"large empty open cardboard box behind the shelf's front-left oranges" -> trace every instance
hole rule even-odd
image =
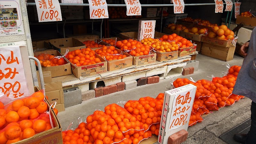
[[[58,50],[61,54],[65,53],[68,49],[69,52],[86,48],[85,45],[75,38],[59,38],[51,39],[49,43],[54,49]]]

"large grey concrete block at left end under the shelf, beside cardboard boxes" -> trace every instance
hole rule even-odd
[[[65,108],[82,103],[82,92],[78,87],[63,90],[63,92]]]

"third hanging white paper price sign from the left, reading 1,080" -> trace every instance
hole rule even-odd
[[[126,15],[141,15],[141,5],[139,0],[124,0],[126,4]]]

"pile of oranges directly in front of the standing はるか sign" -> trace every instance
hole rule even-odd
[[[149,45],[143,45],[139,41],[132,39],[117,41],[116,46],[121,51],[128,52],[132,56],[148,55],[150,52]]]

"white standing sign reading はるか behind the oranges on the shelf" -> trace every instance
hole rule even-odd
[[[144,38],[154,38],[155,36],[156,20],[140,20],[138,41]]]

